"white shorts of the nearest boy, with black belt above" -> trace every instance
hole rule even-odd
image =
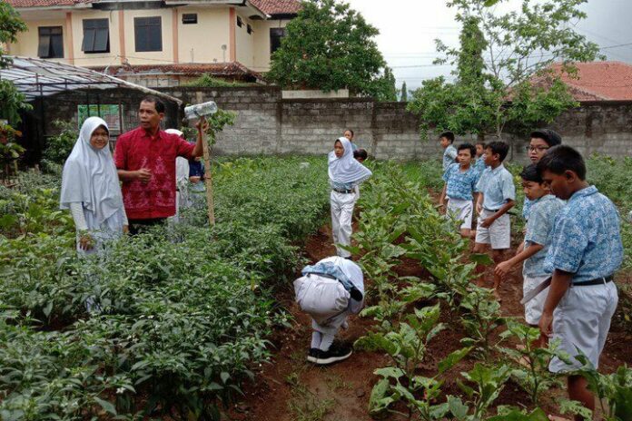
[[[573,364],[567,365],[555,357],[548,369],[558,373],[581,367],[581,363],[573,358],[579,353],[588,357],[597,369],[617,302],[617,285],[614,282],[589,287],[571,286],[553,312],[551,340],[561,340],[559,349],[571,356]]]

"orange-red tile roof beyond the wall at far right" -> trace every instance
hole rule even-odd
[[[578,101],[632,101],[632,65],[621,62],[575,64],[577,79],[562,74],[562,81]],[[553,69],[559,71],[561,64]]]

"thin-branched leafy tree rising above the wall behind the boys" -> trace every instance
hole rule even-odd
[[[452,0],[461,24],[459,47],[437,41],[439,64],[455,66],[454,82],[425,81],[413,94],[410,110],[424,125],[500,137],[552,122],[577,103],[552,64],[573,74],[574,62],[594,60],[597,44],[574,31],[586,18],[586,0],[522,0],[518,12],[499,14],[507,0]]]

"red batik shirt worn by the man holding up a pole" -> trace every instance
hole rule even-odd
[[[177,134],[159,130],[155,136],[142,127],[116,141],[118,170],[152,171],[149,182],[123,181],[123,203],[129,220],[167,218],[175,214],[175,159],[193,157],[195,146]]]

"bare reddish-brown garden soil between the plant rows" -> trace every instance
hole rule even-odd
[[[355,227],[354,227],[355,228]],[[307,240],[304,255],[311,262],[335,255],[332,246],[331,228],[321,227],[315,235]],[[517,244],[512,252],[515,252]],[[415,260],[403,259],[395,271],[400,276],[425,277],[427,272],[420,268]],[[487,279],[491,279],[490,269]],[[370,284],[370,279],[365,279]],[[489,286],[489,285],[486,285]],[[522,317],[522,276],[519,270],[514,271],[509,279],[500,287],[502,311],[504,316]],[[373,385],[378,377],[373,371],[390,364],[390,358],[380,353],[355,352],[349,359],[331,367],[315,367],[306,361],[311,340],[310,318],[301,313],[293,300],[291,282],[287,288],[281,289],[277,299],[283,308],[287,308],[293,318],[291,327],[277,330],[272,338],[273,357],[270,364],[260,367],[255,373],[255,380],[244,385],[244,396],[226,412],[227,419],[240,421],[360,421],[373,419],[369,415],[369,398]],[[445,311],[441,321],[449,323],[449,314]],[[341,331],[342,341],[352,344],[365,335],[373,325],[372,320],[352,316],[350,328]],[[622,328],[622,323],[613,323],[607,338],[606,348],[601,357],[601,370],[611,372],[616,367],[632,364],[632,355],[627,345],[632,339]],[[459,349],[459,340],[464,337],[457,320],[449,323],[430,342],[429,357],[420,367],[421,375],[434,375],[439,361],[450,352]],[[493,356],[502,360],[502,356]],[[465,358],[446,376],[442,387],[444,393],[459,394],[455,379],[461,371],[468,371],[474,366],[476,358]],[[562,389],[551,390],[543,409],[551,415],[559,415],[554,405],[556,397],[564,397]],[[497,399],[496,405],[529,406],[527,394],[517,384],[509,381]],[[407,412],[403,406],[396,409]],[[408,416],[389,414],[384,419],[408,419]]]

